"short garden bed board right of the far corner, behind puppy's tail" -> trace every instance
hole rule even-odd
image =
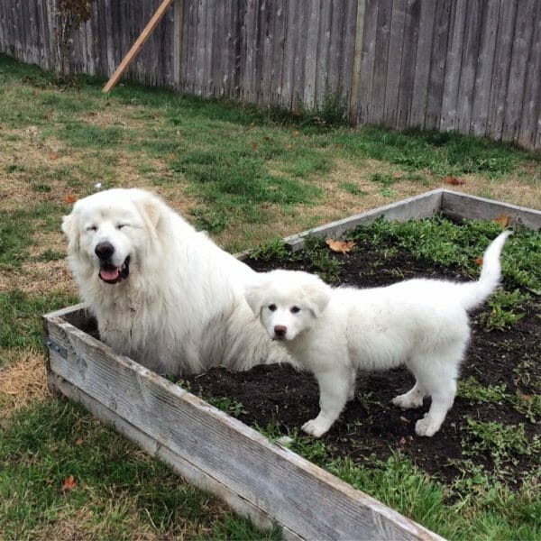
[[[443,190],[441,211],[456,218],[493,220],[504,214],[509,216],[510,224],[524,225],[528,229],[541,229],[541,211],[523,206],[500,203],[483,197],[474,197]]]

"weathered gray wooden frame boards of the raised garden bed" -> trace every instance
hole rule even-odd
[[[483,219],[504,213],[510,222],[541,228],[540,212],[435,190],[311,233],[337,236],[379,216],[405,221],[438,212]],[[306,234],[287,242],[297,250]],[[437,538],[187,390],[116,355],[96,339],[84,306],[48,314],[44,325],[53,390],[82,403],[261,527],[276,522],[284,536],[306,539]],[[254,373],[258,370],[268,367]]]

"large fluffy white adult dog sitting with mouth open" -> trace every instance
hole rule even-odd
[[[98,192],[75,204],[62,231],[79,293],[115,352],[176,375],[287,359],[244,298],[256,272],[159,197]]]

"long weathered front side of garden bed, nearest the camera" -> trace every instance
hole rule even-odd
[[[439,538],[62,318],[47,327],[68,352],[50,355],[52,374],[299,537]]]

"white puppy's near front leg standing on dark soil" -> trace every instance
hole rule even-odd
[[[307,421],[302,429],[312,436],[323,436],[344,409],[351,390],[346,370],[319,371],[314,374],[319,385],[319,415]]]

